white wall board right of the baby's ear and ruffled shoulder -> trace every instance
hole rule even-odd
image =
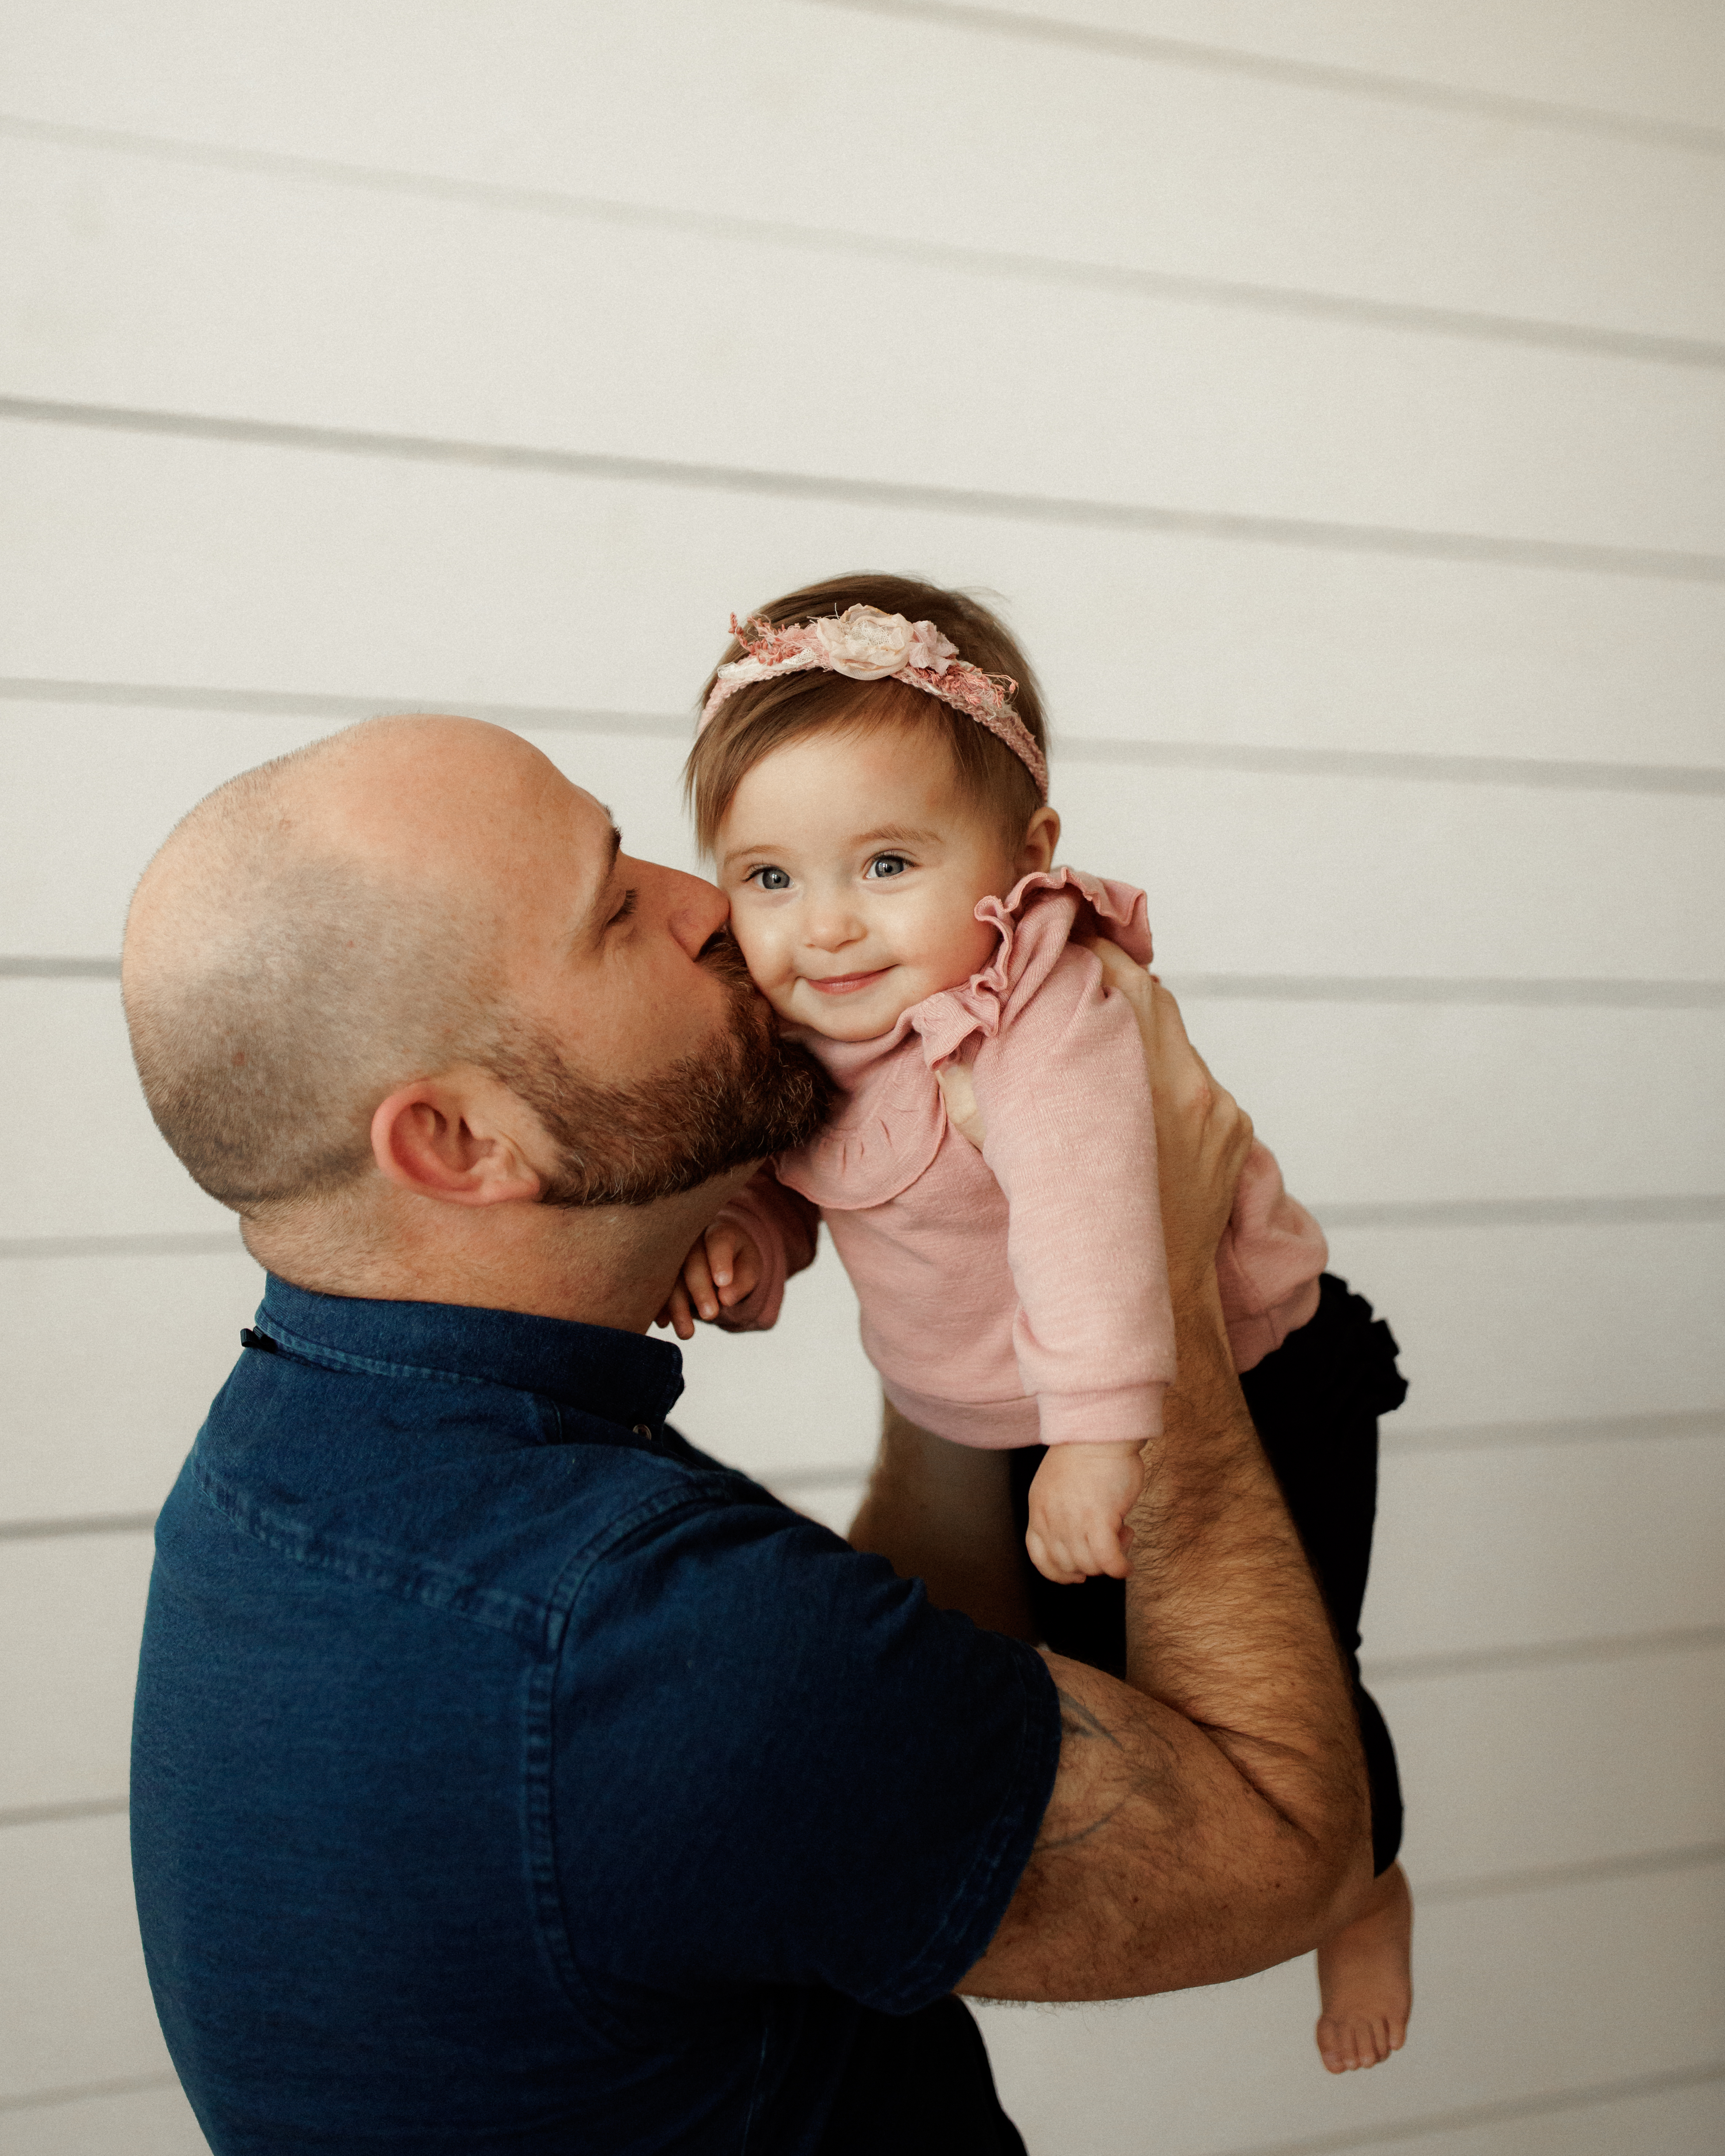
[[[1725,800],[1052,761],[1182,972],[1719,977]]]

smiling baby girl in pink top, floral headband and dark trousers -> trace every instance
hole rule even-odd
[[[748,970],[830,1074],[834,1110],[724,1207],[662,1322],[681,1337],[694,1315],[770,1326],[826,1220],[891,1404],[938,1438],[1039,1460],[1024,1544],[1067,1591],[1054,1606],[1119,1595],[1141,1455],[1175,1376],[1173,1315],[1138,1028],[1085,938],[1149,964],[1145,897],[1054,867],[1035,681],[975,599],[858,576],[733,630],[690,755],[696,830]],[[1376,1470],[1376,1412],[1399,1393],[1382,1371],[1356,1382],[1369,1309],[1324,1259],[1317,1222],[1255,1145],[1216,1259],[1223,1311],[1238,1369],[1264,1367],[1248,1399],[1348,1649],[1365,1557],[1326,1563],[1326,1529],[1294,1505],[1313,1453],[1289,1473],[1266,1429],[1292,1384],[1302,1432],[1365,1414]],[[1382,1365],[1382,1341],[1365,1363],[1374,1352]],[[1335,1507],[1354,1522],[1356,1455]],[[1061,1647],[1059,1621],[1044,1632]],[[1393,1753],[1361,1699],[1380,1878],[1320,1955],[1335,2072],[1389,2057],[1410,2001]]]

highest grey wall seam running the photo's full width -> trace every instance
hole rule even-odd
[[[1376,300],[1367,293],[1326,291],[1305,285],[1257,285],[1248,278],[1197,276],[1195,272],[1098,263],[1063,254],[1024,254],[1013,248],[962,246],[942,239],[852,231],[834,224],[796,224],[783,218],[673,209],[662,203],[627,203],[615,196],[576,194],[561,188],[455,179],[453,175],[416,172],[401,166],[354,164],[341,157],[310,157],[293,151],[242,149],[226,142],[190,142],[175,136],[136,134],[132,129],[32,121],[22,114],[0,114],[0,136],[26,142],[54,142],[65,149],[91,149],[106,155],[153,157],[162,164],[201,170],[248,172],[270,179],[310,181],[326,188],[360,188],[369,194],[464,203],[483,209],[625,226],[630,231],[737,239],[750,248],[785,246],[813,254],[903,261],[947,274],[998,278],[1020,285],[1054,285],[1134,300],[1171,300],[1184,306],[1214,306],[1305,321],[1354,321],[1374,330],[1412,332],[1417,336],[1529,345],[1542,351],[1652,360],[1662,367],[1725,367],[1725,343],[1706,336],[1680,336],[1675,332],[1552,321],[1537,315],[1499,315],[1490,308],[1432,306],[1421,300]]]

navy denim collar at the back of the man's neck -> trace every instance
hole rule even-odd
[[[630,1427],[662,1423],[684,1391],[684,1358],[671,1341],[565,1317],[321,1296],[272,1272],[257,1322],[310,1360],[384,1378],[500,1384]]]

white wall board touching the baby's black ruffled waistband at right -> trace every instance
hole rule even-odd
[[[1397,1429],[1725,1401],[1716,1225],[1350,1227],[1330,1231],[1330,1270],[1402,1343]]]

